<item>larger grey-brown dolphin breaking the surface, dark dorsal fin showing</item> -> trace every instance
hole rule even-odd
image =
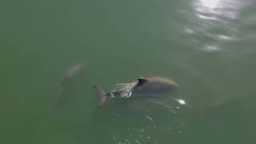
[[[169,78],[151,77],[138,78],[137,82],[121,83],[115,90],[106,93],[99,86],[94,86],[97,90],[98,106],[103,106],[108,99],[139,99],[143,102],[151,102],[166,106],[163,102],[170,98],[173,92],[178,90],[178,84]],[[174,98],[172,98],[174,100]],[[163,100],[160,101],[160,100]],[[105,105],[105,104],[104,104]]]

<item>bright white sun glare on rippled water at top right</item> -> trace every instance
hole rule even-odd
[[[194,0],[194,14],[197,26],[194,29],[186,27],[186,34],[202,44],[202,50],[222,50],[226,42],[237,40],[238,23],[242,2],[237,0]],[[193,33],[192,33],[193,32]],[[201,43],[203,42],[203,43]]]

